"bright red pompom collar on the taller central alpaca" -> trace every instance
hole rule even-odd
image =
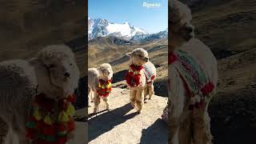
[[[126,83],[130,87],[140,86],[141,85],[141,76],[140,71],[144,68],[144,66],[135,66],[130,65],[129,71],[126,74]]]

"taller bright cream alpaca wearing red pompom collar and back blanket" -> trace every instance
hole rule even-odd
[[[126,75],[126,82],[130,86],[130,102],[139,114],[146,96],[149,95],[150,99],[154,94],[156,68],[149,62],[147,51],[142,48],[137,48],[126,55],[130,57],[130,70]]]

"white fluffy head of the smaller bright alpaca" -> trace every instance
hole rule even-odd
[[[111,79],[113,77],[113,70],[109,63],[103,63],[98,67],[98,71],[102,79]]]

